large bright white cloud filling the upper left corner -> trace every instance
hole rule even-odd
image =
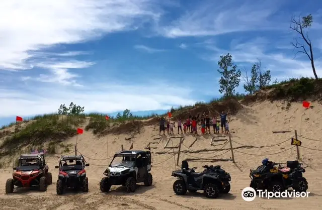
[[[161,13],[154,2],[155,0],[1,1],[0,14],[6,18],[0,19],[0,69],[31,69],[38,65],[40,58],[84,54],[79,51],[48,53],[46,50],[57,44],[73,44],[112,32],[133,30],[142,22],[155,21]],[[61,63],[60,60],[55,62]],[[64,83],[76,76],[69,73],[68,68],[71,67],[58,68],[53,65],[49,69],[56,78],[60,78],[60,83]],[[41,76],[41,79],[58,81],[47,76]]]

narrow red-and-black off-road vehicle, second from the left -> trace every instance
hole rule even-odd
[[[55,166],[55,168],[59,168],[56,183],[57,194],[63,194],[67,187],[75,190],[82,188],[83,192],[88,192],[89,180],[86,177],[85,167],[89,165],[89,163],[85,162],[83,155],[62,156],[59,166]]]

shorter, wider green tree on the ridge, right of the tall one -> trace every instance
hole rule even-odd
[[[262,69],[262,62],[258,60],[251,70],[251,78],[248,77],[247,70],[246,76],[243,76],[245,81],[244,89],[249,94],[253,94],[256,91],[269,85],[271,81],[271,71],[268,69]]]

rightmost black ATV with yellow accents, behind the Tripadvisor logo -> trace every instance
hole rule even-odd
[[[250,187],[271,192],[282,192],[292,187],[295,191],[305,192],[308,184],[302,175],[305,172],[303,164],[297,160],[287,161],[286,167],[283,164],[285,163],[271,163],[261,165],[256,170],[251,169]]]

